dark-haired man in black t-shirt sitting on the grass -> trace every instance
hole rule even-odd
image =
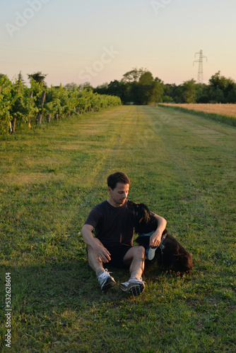
[[[87,244],[88,263],[98,277],[102,292],[116,285],[114,278],[104,268],[104,264],[109,263],[116,268],[129,268],[130,279],[121,283],[119,288],[129,294],[139,295],[145,287],[141,277],[145,249],[143,246],[133,246],[134,215],[126,208],[129,185],[129,178],[122,172],[107,178],[110,197],[90,211],[81,235]],[[151,246],[160,244],[166,226],[163,217],[155,217],[158,219],[158,228],[152,235]]]

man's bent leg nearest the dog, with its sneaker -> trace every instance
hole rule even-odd
[[[128,282],[121,283],[119,288],[124,292],[139,295],[144,290],[144,282],[141,275],[144,269],[145,249],[143,246],[133,246],[124,256],[124,263],[129,266],[130,279]]]

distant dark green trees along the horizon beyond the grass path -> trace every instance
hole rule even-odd
[[[143,68],[133,68],[122,80],[113,80],[93,88],[94,92],[117,95],[123,104],[166,103],[236,103],[236,83],[220,71],[211,76],[208,85],[187,80],[182,85],[165,84]]]

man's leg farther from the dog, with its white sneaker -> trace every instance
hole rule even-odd
[[[95,238],[95,241],[102,245],[99,239]],[[110,274],[107,272],[107,269],[105,270],[105,268],[103,267],[103,263],[101,261],[98,261],[98,258],[95,256],[92,246],[87,245],[87,252],[88,263],[90,267],[93,268],[98,277],[98,282],[101,285],[102,292],[107,292],[108,289],[116,285],[116,282],[114,278],[110,276]]]

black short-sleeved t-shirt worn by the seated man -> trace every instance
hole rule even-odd
[[[134,215],[124,205],[114,207],[108,201],[102,201],[90,211],[85,225],[95,229],[95,237],[104,246],[133,245]]]

